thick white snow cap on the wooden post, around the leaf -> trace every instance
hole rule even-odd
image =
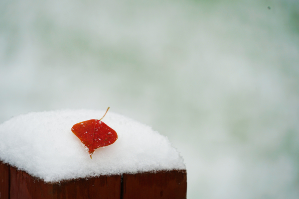
[[[92,159],[72,133],[74,124],[98,119],[102,110],[30,112],[0,124],[0,160],[45,182],[100,175],[185,169],[167,137],[109,111],[102,119],[118,140],[95,150]]]

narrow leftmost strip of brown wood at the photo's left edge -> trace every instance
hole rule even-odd
[[[0,199],[9,199],[9,167],[0,161]]]

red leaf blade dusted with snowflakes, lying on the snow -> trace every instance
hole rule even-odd
[[[72,127],[72,132],[88,148],[90,158],[97,148],[113,144],[118,138],[115,130],[98,119],[79,122]]]

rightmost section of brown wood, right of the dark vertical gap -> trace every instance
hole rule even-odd
[[[186,170],[123,174],[123,199],[186,199]]]

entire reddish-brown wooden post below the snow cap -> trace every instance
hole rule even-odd
[[[186,199],[186,170],[45,183],[0,162],[0,199]]]

